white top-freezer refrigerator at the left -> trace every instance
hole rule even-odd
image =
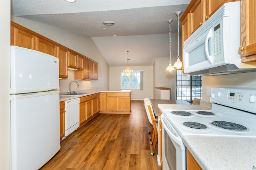
[[[10,49],[10,169],[35,170],[60,150],[58,58]]]

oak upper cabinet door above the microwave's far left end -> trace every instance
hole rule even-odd
[[[190,35],[204,23],[204,16],[205,1],[197,0],[190,10]]]

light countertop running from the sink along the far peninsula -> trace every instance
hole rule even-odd
[[[61,101],[66,101],[66,100],[70,100],[70,99],[76,99],[79,97],[83,97],[83,96],[88,96],[88,95],[93,95],[96,93],[100,93],[100,92],[106,92],[106,93],[111,93],[111,92],[118,92],[118,93],[124,93],[124,92],[132,92],[131,90],[120,90],[120,91],[99,91],[99,90],[84,90],[84,91],[76,91],[76,93],[86,93],[83,95],[65,95],[63,96],[62,93],[60,93],[60,102]]]

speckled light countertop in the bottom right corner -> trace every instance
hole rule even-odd
[[[256,138],[184,135],[182,141],[203,170],[256,166]]]

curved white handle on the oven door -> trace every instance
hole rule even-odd
[[[163,114],[161,115],[161,120],[162,120],[162,126],[164,127],[164,130],[166,130],[170,138],[174,140],[174,142],[176,142],[182,150],[185,150],[186,148],[182,142],[182,138],[180,137],[178,132],[172,127],[169,121],[164,117]],[[167,123],[168,123],[168,127],[166,126]]]

